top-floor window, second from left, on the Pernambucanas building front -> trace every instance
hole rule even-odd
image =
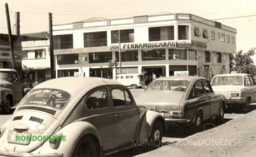
[[[107,46],[107,31],[84,33],[84,47]]]

